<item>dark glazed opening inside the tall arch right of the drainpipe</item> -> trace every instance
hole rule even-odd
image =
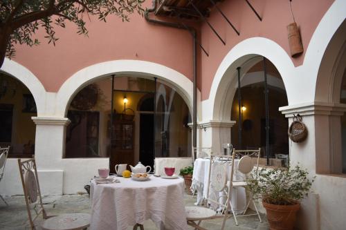
[[[264,77],[264,64],[266,77]],[[231,110],[231,120],[236,121],[231,130],[233,146],[238,149],[260,147],[262,157],[268,155],[268,158],[283,158],[282,163],[287,165],[289,121],[280,113],[279,108],[286,106],[288,101],[279,71],[271,61],[266,59],[257,61],[241,75],[241,88],[238,87],[235,91]],[[240,116],[239,90],[241,93]],[[268,97],[267,105],[266,97]],[[267,150],[268,153],[266,153]],[[268,164],[277,164],[277,161],[270,160]]]

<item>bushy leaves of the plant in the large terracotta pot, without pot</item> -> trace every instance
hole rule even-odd
[[[257,180],[250,180],[248,189],[254,198],[261,198],[269,204],[296,204],[311,189],[314,178],[309,179],[308,174],[307,170],[298,165],[293,169],[262,168],[253,171],[253,178],[257,177]]]

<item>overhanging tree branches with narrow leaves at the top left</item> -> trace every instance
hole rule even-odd
[[[44,28],[48,44],[58,40],[55,36],[56,26],[64,28],[66,21],[75,23],[77,33],[88,35],[86,20],[96,16],[100,21],[106,21],[107,16],[116,15],[122,21],[129,21],[129,15],[134,11],[143,15],[142,3],[145,0],[1,0],[0,32],[10,33],[6,39],[6,56],[15,55],[14,44],[35,46],[39,44],[33,39],[33,34],[39,28]],[[1,43],[3,44],[3,43]]]

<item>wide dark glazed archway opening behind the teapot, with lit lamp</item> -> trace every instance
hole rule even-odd
[[[155,70],[155,68],[152,68],[152,70]],[[174,73],[173,70],[166,70],[168,71],[167,73],[170,73],[170,71],[172,72],[171,74]],[[111,93],[111,76],[114,76],[113,93]],[[65,157],[110,156],[111,170],[113,169],[113,164],[127,163],[134,165],[138,160],[143,160],[143,156],[139,153],[139,133],[142,127],[140,121],[144,119],[143,113],[153,112],[140,111],[138,108],[141,108],[139,105],[140,102],[145,102],[144,99],[141,99],[147,95],[154,95],[156,90],[156,99],[164,97],[163,102],[166,102],[163,105],[163,111],[156,110],[156,113],[158,113],[156,117],[164,116],[163,121],[165,128],[164,131],[155,135],[155,142],[152,144],[154,148],[155,143],[155,151],[151,151],[150,154],[154,152],[156,153],[156,157],[162,157],[162,151],[159,150],[162,149],[163,143],[165,143],[164,145],[167,148],[166,157],[190,156],[191,150],[188,148],[188,146],[190,146],[188,142],[191,141],[188,140],[188,138],[191,137],[191,135],[188,135],[190,130],[186,125],[183,126],[183,123],[192,107],[191,104],[189,106],[186,103],[190,102],[186,101],[186,99],[191,99],[192,97],[190,94],[185,94],[184,96],[179,93],[182,92],[181,89],[187,89],[186,85],[183,87],[176,87],[179,81],[181,82],[181,77],[183,76],[179,75],[175,77],[177,82],[174,82],[174,84],[163,80],[165,77],[160,77],[157,81],[154,81],[156,75],[145,75],[145,73],[133,71],[128,71],[126,73],[118,72],[116,75],[91,77],[90,79],[85,79],[85,77],[83,79],[80,78],[80,87],[74,88],[76,88],[76,90],[82,88],[82,90],[78,90],[78,93],[71,93],[70,91],[72,98],[64,98],[65,101],[70,102],[68,109],[66,109],[64,113],[67,113],[67,117],[71,120],[71,124],[66,128]],[[155,82],[157,82],[157,86]],[[85,86],[85,84],[87,85]],[[192,86],[191,82],[190,84]],[[87,88],[91,88],[91,91],[93,91],[92,88],[97,88],[95,91],[98,96],[95,97],[98,97],[98,99],[95,100],[92,106],[89,106],[90,103],[87,102],[93,101],[93,98],[89,98],[92,92],[82,93]],[[64,86],[62,86],[62,89],[57,93],[58,97],[62,90],[64,90]],[[123,100],[125,97],[127,99],[126,103]],[[89,100],[87,98],[89,98]],[[102,98],[103,102],[100,102],[100,98]],[[82,103],[83,99],[86,103]],[[112,115],[110,113],[110,111],[112,111],[112,102],[113,119],[111,119]],[[152,102],[154,103],[154,100],[152,100]],[[83,104],[90,108],[82,106]],[[157,100],[156,108],[159,108]],[[181,132],[176,132],[178,127],[179,130],[182,129],[180,125],[185,128],[184,135]],[[163,135],[163,133],[165,135]],[[178,135],[176,135],[176,133],[178,133]],[[154,137],[154,133],[147,133],[146,135]],[[165,138],[163,138],[163,136]],[[183,137],[186,137],[185,142],[181,142],[181,138]],[[84,148],[81,148],[82,146],[84,146]],[[126,153],[124,151],[126,151]],[[120,158],[113,159],[113,152]],[[116,152],[118,153],[116,154]],[[76,153],[80,153],[80,155],[76,155]],[[124,156],[127,156],[128,159],[122,159]],[[152,160],[150,164],[153,163],[154,161]]]

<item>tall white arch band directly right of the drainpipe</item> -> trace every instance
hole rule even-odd
[[[238,66],[251,66],[252,63],[259,60],[258,55],[269,59],[280,72],[286,88],[287,99],[290,101],[292,84],[289,78],[294,70],[291,58],[274,41],[263,37],[253,37],[241,41],[221,61],[212,81],[209,98],[203,102],[203,108],[206,106],[212,110],[203,109],[203,119],[226,119],[222,114],[221,107],[230,82],[237,76],[236,68]]]

